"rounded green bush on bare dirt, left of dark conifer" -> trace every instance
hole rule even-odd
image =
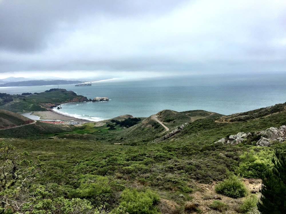
[[[215,186],[215,191],[231,198],[240,198],[247,195],[244,183],[235,175],[218,183]]]

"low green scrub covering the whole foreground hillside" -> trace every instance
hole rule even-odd
[[[0,130],[1,170],[14,172],[0,172],[0,213],[258,213],[259,185],[246,181],[279,180],[279,158],[271,159],[276,150],[286,154],[285,142],[256,147],[254,135],[237,145],[214,142],[285,125],[284,110],[236,122],[201,110],[157,116],[170,131],[188,125],[164,141],[154,141],[166,132],[152,117]]]

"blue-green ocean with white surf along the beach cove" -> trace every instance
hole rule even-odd
[[[92,86],[51,85],[0,87],[1,93],[21,94],[65,88],[89,98],[105,97],[107,102],[75,102],[55,111],[90,121],[124,114],[148,117],[161,110],[178,112],[206,110],[233,114],[272,106],[286,101],[286,74],[204,75],[145,79],[125,82],[102,81]]]

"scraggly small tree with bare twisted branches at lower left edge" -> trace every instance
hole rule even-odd
[[[27,184],[39,175],[40,165],[26,160],[26,155],[0,142],[0,213],[20,211],[29,203]]]

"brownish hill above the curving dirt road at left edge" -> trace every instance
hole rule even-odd
[[[21,126],[34,122],[33,120],[7,110],[0,110],[0,129]]]

